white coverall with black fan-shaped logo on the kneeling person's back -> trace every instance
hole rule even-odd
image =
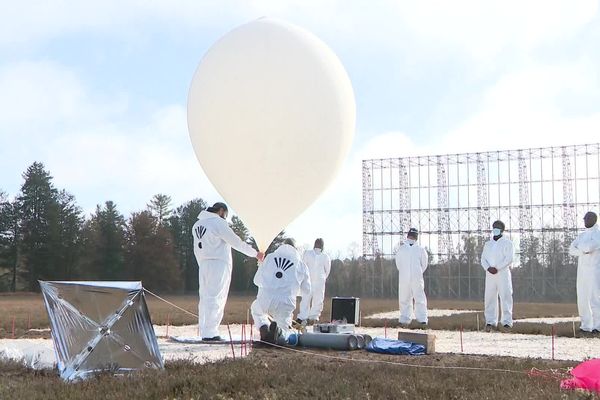
[[[271,317],[281,328],[283,339],[287,339],[298,291],[302,299],[310,294],[310,275],[300,253],[289,244],[279,246],[256,271],[254,284],[258,286],[258,295],[250,310],[256,330],[269,326]]]

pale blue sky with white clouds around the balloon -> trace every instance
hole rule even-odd
[[[339,176],[288,227],[358,255],[361,160],[600,140],[598,1],[0,0],[0,190],[41,161],[89,215],[156,193],[221,200],[189,139],[202,56],[263,16],[338,55],[356,133]],[[233,210],[235,211],[235,210]]]

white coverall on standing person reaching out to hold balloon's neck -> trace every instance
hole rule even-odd
[[[198,330],[203,338],[219,335],[219,325],[231,283],[231,248],[249,257],[257,251],[240,239],[218,214],[202,211],[192,227],[194,255],[198,262]]]

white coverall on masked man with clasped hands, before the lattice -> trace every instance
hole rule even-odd
[[[512,326],[512,276],[510,267],[514,261],[515,249],[510,239],[501,236],[498,240],[488,240],[483,246],[481,266],[485,270],[484,315],[488,325],[498,325],[498,296],[502,310],[502,325]],[[498,272],[487,269],[495,267]]]

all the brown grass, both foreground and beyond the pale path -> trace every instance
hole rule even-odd
[[[195,296],[167,296],[167,299],[191,312],[196,312]],[[154,323],[194,324],[194,317],[147,296]],[[245,321],[254,300],[249,296],[230,296],[225,323]],[[329,315],[329,301],[323,315]],[[430,308],[468,309],[481,312],[479,302],[439,301]],[[361,299],[363,315],[397,310],[395,299]],[[572,316],[572,304],[516,304],[518,317]],[[48,326],[46,311],[38,294],[0,296],[0,337],[25,333],[28,326]],[[480,317],[480,322],[483,318]],[[395,320],[368,320],[371,326],[395,326]],[[430,319],[434,329],[476,329],[474,314]],[[530,325],[530,326],[528,326]],[[572,325],[557,325],[572,336]],[[516,324],[515,332],[539,331],[549,334],[550,326]],[[527,332],[526,332],[527,331]],[[560,333],[560,331],[559,331]],[[38,336],[48,337],[48,332]],[[33,335],[27,335],[32,337]],[[349,361],[323,358],[319,355],[352,358]],[[382,363],[388,362],[388,363]],[[411,363],[435,366],[423,369],[397,365]],[[531,368],[564,369],[573,362],[518,359],[509,357],[436,354],[422,357],[383,356],[366,352],[295,353],[289,350],[256,349],[245,359],[225,360],[197,365],[191,362],[167,363],[164,371],[144,371],[130,377],[103,374],[76,384],[62,382],[55,370],[34,371],[12,362],[0,361],[0,399],[589,399],[597,398],[581,392],[559,389],[559,382],[527,375]],[[466,366],[507,369],[515,373],[441,369],[440,366]]]

